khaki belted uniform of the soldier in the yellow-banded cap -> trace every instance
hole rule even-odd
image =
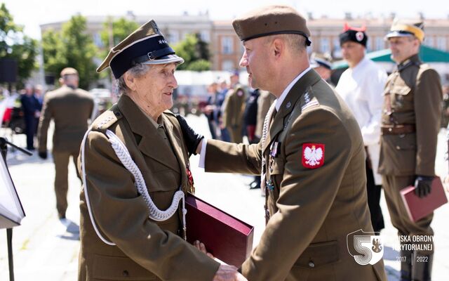
[[[435,175],[441,91],[438,73],[418,55],[399,64],[385,86],[379,172],[391,222],[400,235],[433,235],[433,214],[410,221],[399,191],[415,185],[417,175]]]

